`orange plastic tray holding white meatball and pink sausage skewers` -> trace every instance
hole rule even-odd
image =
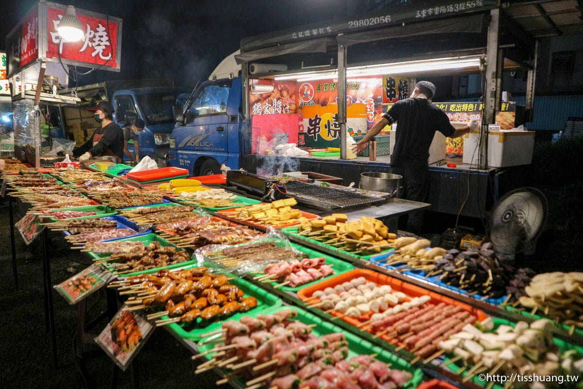
[[[408,282],[401,281],[400,279],[392,278],[392,277],[389,277],[388,275],[380,274],[380,273],[377,273],[377,272],[374,272],[371,270],[367,270],[367,269],[354,269],[352,271],[349,271],[349,272],[346,272],[343,274],[339,274],[335,277],[328,278],[322,282],[315,283],[314,285],[310,285],[307,288],[303,288],[303,289],[298,290],[297,296],[299,299],[307,301],[307,300],[311,299],[312,295],[314,294],[314,292],[316,290],[324,290],[328,287],[334,288],[339,283],[350,281],[350,280],[352,280],[354,278],[358,278],[358,277],[364,277],[364,278],[366,278],[367,281],[374,282],[377,285],[390,285],[391,288],[393,290],[395,290],[395,292],[405,293],[405,295],[407,295],[407,297],[408,297],[407,300],[410,300],[412,297],[421,297],[421,296],[429,295],[429,297],[431,297],[431,300],[429,300],[429,303],[431,303],[431,304],[437,305],[439,303],[445,303],[445,304],[451,304],[454,306],[460,306],[460,307],[462,307],[463,310],[468,311],[470,314],[475,316],[477,318],[477,320],[479,320],[479,321],[482,321],[488,317],[486,315],[486,313],[484,313],[484,311],[481,311],[481,310],[476,309],[472,306],[469,306],[468,304],[458,302],[454,299],[450,299],[449,297],[445,297],[445,296],[442,296],[438,293],[430,292],[427,289],[420,288],[419,286],[412,285]],[[317,309],[317,308],[314,308],[314,309]],[[340,313],[339,311],[331,311],[330,314],[332,314],[333,316],[342,316],[343,315],[343,313]],[[346,321],[346,323],[354,325],[355,327],[358,327],[360,324],[364,323],[365,321],[368,321],[372,314],[373,314],[373,311],[370,311],[368,314],[361,315],[359,317],[345,316],[342,318],[342,320]],[[375,333],[371,330],[370,326],[368,327],[367,332],[370,332],[371,334]],[[381,338],[384,339],[385,341],[388,341],[388,342],[391,341],[391,344],[395,344],[395,341],[398,340],[397,338],[389,338],[387,335],[381,335]],[[397,341],[396,344],[402,345],[403,343]]]

